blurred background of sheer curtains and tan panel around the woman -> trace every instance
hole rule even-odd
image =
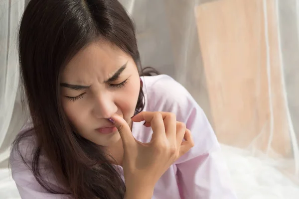
[[[16,35],[29,0],[0,0],[0,198],[24,124]],[[239,199],[299,198],[299,0],[120,0],[143,66],[181,83],[221,143]]]

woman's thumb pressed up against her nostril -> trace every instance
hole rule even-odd
[[[130,129],[130,126],[126,122],[126,120],[115,114],[114,116],[111,117],[114,120],[114,125],[117,127],[118,132],[121,135],[123,145],[127,147],[128,145],[131,145],[132,143],[135,142],[135,138],[133,137],[132,131]]]

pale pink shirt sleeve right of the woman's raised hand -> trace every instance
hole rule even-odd
[[[174,165],[183,199],[236,199],[229,170],[216,135],[202,108],[188,91],[169,76],[152,87],[158,110],[173,112],[190,129],[194,147]]]

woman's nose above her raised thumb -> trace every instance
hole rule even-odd
[[[110,118],[118,110],[113,97],[108,93],[100,94],[96,97],[94,114],[97,118]]]

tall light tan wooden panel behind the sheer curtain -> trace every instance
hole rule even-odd
[[[270,142],[270,155],[286,157],[292,151],[275,1],[265,2],[265,13],[263,0],[218,0],[197,6],[198,37],[219,141],[263,152]]]

